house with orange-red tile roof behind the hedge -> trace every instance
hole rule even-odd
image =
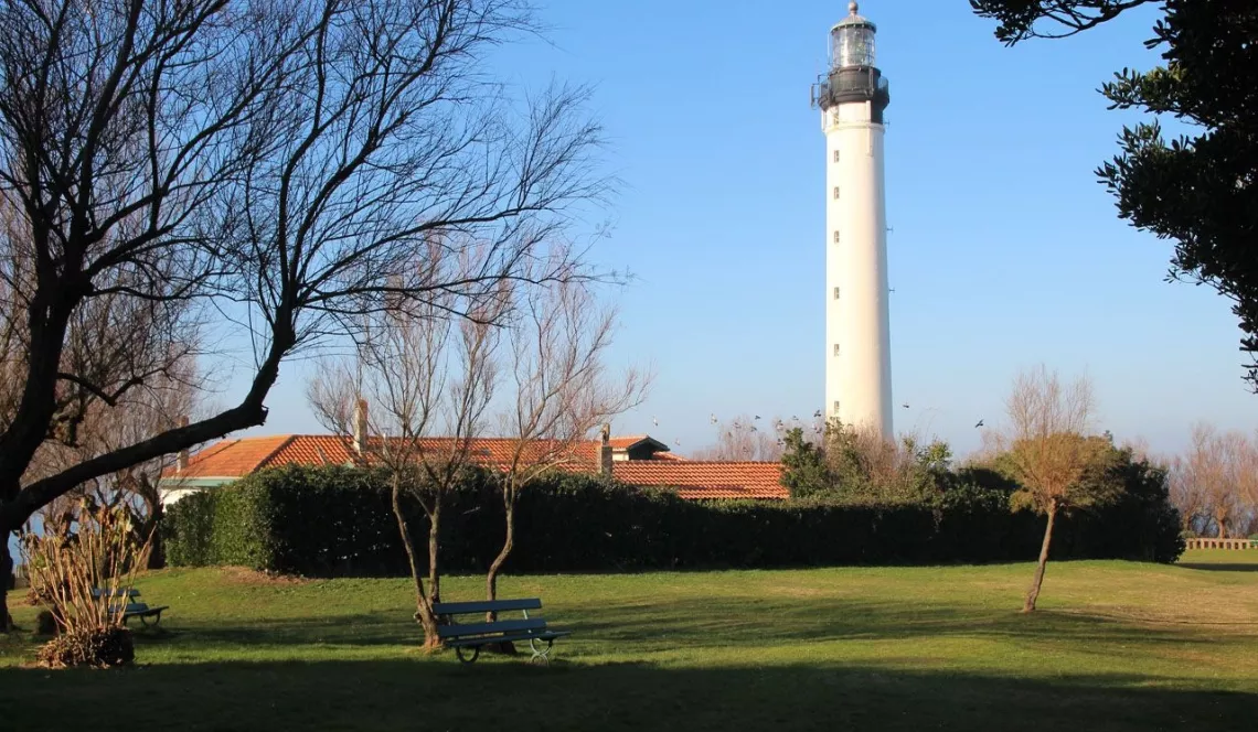
[[[162,477],[162,499],[172,503],[189,493],[213,489],[265,468],[364,464],[355,445],[353,439],[336,435],[224,439],[194,455],[180,454],[176,465]],[[423,440],[423,446],[438,453],[448,450],[452,440],[431,438]],[[511,439],[476,438],[470,455],[482,465],[504,467],[512,448]],[[649,435],[582,440],[569,450],[561,469],[610,472],[621,483],[674,489],[682,498],[781,501],[789,497],[780,482],[780,463],[687,460],[672,454],[668,445]],[[610,459],[605,459],[608,453]]]

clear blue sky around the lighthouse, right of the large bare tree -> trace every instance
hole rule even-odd
[[[825,152],[809,84],[835,0],[540,0],[548,43],[502,49],[503,79],[595,87],[625,185],[596,259],[629,267],[614,365],[650,362],[648,401],[613,426],[686,452],[708,415],[823,404]],[[891,80],[887,200],[898,431],[979,444],[1021,367],[1092,376],[1102,426],[1155,449],[1191,421],[1253,429],[1258,396],[1228,302],[1167,284],[1171,245],[1117,219],[1093,170],[1132,116],[1096,91],[1156,57],[1154,13],[1009,49],[964,0],[867,0]],[[287,365],[248,434],[322,431]],[[238,392],[221,395],[226,402]],[[902,404],[907,402],[908,409]],[[658,420],[658,426],[654,425]]]

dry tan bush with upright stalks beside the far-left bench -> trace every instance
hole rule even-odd
[[[23,536],[31,591],[62,630],[40,648],[42,665],[103,668],[135,657],[122,615],[150,541],[151,536],[143,543],[135,538],[125,509],[98,508],[88,501],[73,524]]]

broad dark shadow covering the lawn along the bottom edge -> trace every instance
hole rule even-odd
[[[1248,729],[1258,696],[1138,675],[520,659],[0,669],[9,729]],[[1142,685],[1144,684],[1144,685]],[[73,702],[70,702],[73,699]]]

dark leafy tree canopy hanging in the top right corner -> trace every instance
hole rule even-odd
[[[1013,45],[1094,28],[1152,0],[971,0]],[[1125,127],[1097,169],[1118,214],[1175,243],[1169,280],[1205,284],[1233,302],[1245,379],[1258,389],[1258,3],[1165,0],[1145,45],[1162,65],[1122,69],[1101,92],[1113,109],[1170,116],[1191,130],[1167,138],[1156,117]]]

